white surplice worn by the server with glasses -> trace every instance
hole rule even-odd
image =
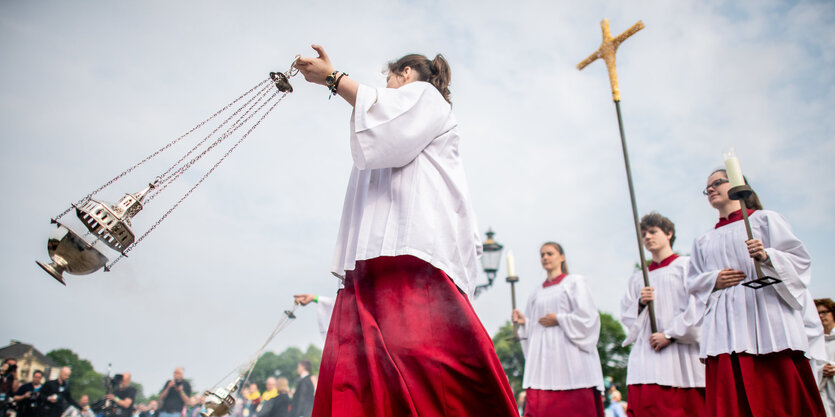
[[[823,326],[820,320],[815,324],[811,319],[811,258],[806,247],[773,211],[757,210],[749,220],[754,238],[762,240],[771,260],[771,265],[762,264],[763,273],[783,282],[758,290],[740,284],[713,291],[724,268],[745,272],[743,282],[757,278],[745,244],[745,224],[736,221],[696,238],[687,288],[706,306],[700,356],[762,355],[792,349],[822,358]]]

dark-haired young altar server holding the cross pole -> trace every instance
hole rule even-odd
[[[702,416],[705,367],[699,361],[699,322],[704,312],[685,288],[690,258],[673,253],[676,229],[652,212],[641,219],[644,247],[652,254],[650,286],[642,271],[629,279],[620,303],[628,329],[623,345],[633,344],[626,373],[630,417]],[[657,332],[650,326],[647,303],[655,309]]]

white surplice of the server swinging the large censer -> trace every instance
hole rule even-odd
[[[450,104],[431,84],[359,86],[335,275],[358,260],[412,255],[472,297],[481,241],[459,142]]]

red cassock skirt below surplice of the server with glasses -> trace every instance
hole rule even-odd
[[[705,366],[709,417],[826,416],[803,352],[721,354]]]

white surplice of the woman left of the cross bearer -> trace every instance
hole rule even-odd
[[[556,314],[559,324],[539,324],[550,313]],[[597,354],[600,314],[583,276],[567,275],[559,284],[537,288],[528,298],[519,336],[525,354],[523,388],[603,391]]]

